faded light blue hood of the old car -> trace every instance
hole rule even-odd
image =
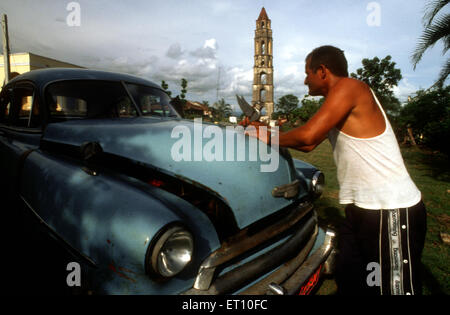
[[[229,205],[243,228],[291,204],[293,200],[273,197],[272,189],[292,182],[296,175],[289,154],[271,151],[232,128],[154,117],[72,120],[49,124],[43,140],[74,146],[98,142],[106,153],[207,187]]]

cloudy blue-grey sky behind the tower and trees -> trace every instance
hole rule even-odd
[[[429,1],[428,1],[429,2]],[[430,87],[446,60],[443,45],[416,69],[410,57],[423,30],[424,0],[2,0],[10,50],[86,68],[125,72],[172,95],[188,81],[187,99],[218,99],[237,110],[235,95],[251,101],[256,19],[264,7],[273,36],[274,99],[307,94],[304,59],[314,48],[344,50],[349,73],[363,58],[392,56],[403,79],[394,89],[406,101]],[[449,12],[449,6],[443,12]]]

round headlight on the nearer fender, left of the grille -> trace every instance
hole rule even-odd
[[[180,273],[192,260],[194,238],[181,226],[167,229],[152,248],[150,265],[153,273],[173,277]]]

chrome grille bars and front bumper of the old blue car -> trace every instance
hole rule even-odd
[[[294,215],[290,215],[283,220],[285,221],[284,225],[292,227],[294,218],[295,222],[299,222],[310,211],[312,211],[312,205],[300,207],[296,214],[294,212]],[[286,222],[290,223],[286,224]],[[277,230],[280,230],[280,227]],[[263,232],[264,235],[267,235],[268,231]],[[313,213],[286,242],[213,280],[216,267],[227,259],[236,258],[236,255],[231,253],[242,253],[246,243],[254,245],[255,242],[245,238],[238,239],[237,243],[228,244],[226,248],[221,248],[208,257],[200,267],[194,287],[182,294],[217,295],[239,292],[239,288],[245,287],[248,283],[260,278],[261,275],[268,274],[275,269],[276,271],[258,280],[239,294],[295,294],[328,258],[333,248],[334,233],[327,231],[324,243],[308,257],[317,235],[317,216]],[[301,248],[300,252],[298,252],[299,248]],[[245,250],[249,249],[251,248]]]

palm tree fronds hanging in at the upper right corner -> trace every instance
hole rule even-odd
[[[450,14],[446,13],[437,16],[449,2],[450,0],[433,0],[426,5],[425,14],[423,16],[425,29],[422,36],[419,38],[419,43],[417,44],[414,54],[411,56],[414,70],[422,59],[424,52],[428,48],[433,47],[438,41],[442,40],[444,42],[443,55],[450,48]],[[450,58],[444,63],[439,78],[433,86],[442,87],[449,73]]]

